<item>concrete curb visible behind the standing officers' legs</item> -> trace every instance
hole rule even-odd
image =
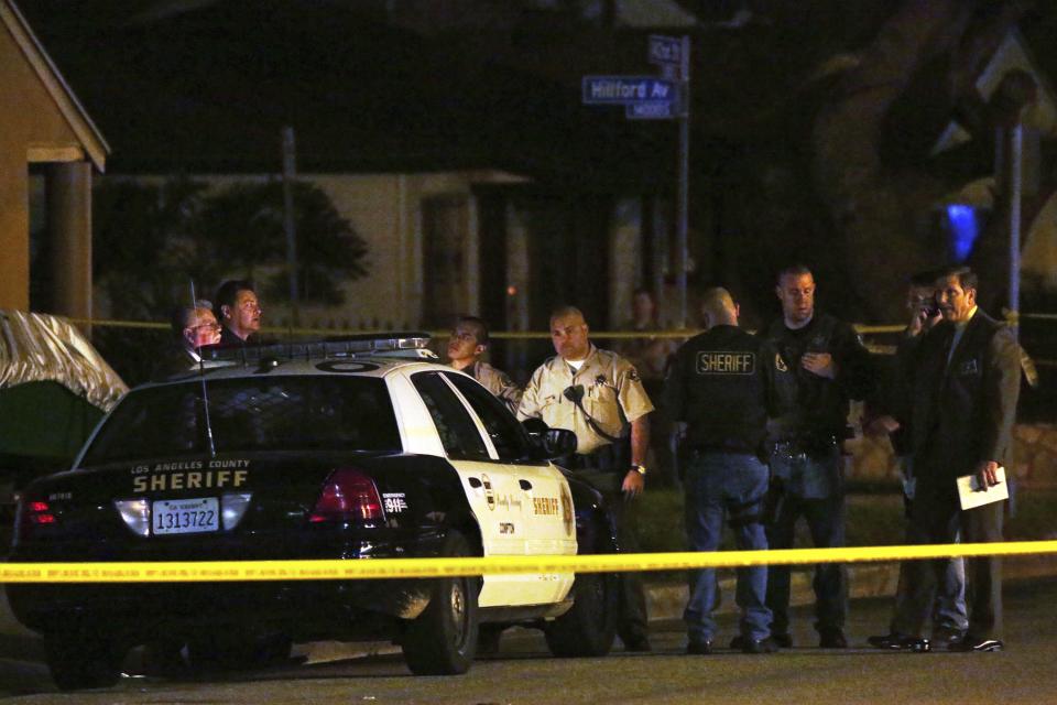
[[[1026,555],[1005,558],[1003,582],[1028,581],[1037,577],[1057,576],[1057,555]],[[813,571],[795,570],[792,575],[789,604],[813,605]],[[898,563],[848,566],[848,594],[852,598],[892,597],[900,579]],[[722,600],[717,614],[734,612],[734,575],[732,571],[720,572],[719,588]],[[651,621],[682,619],[689,598],[686,585],[663,583],[646,584],[646,609]]]

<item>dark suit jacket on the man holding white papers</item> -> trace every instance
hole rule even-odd
[[[1021,391],[1009,328],[978,308],[948,365],[954,335],[954,324],[940,323],[907,355],[915,475],[951,489],[981,462],[1007,459]]]

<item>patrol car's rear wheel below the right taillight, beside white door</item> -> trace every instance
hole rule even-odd
[[[458,531],[445,539],[445,556],[472,555]],[[480,577],[444,577],[434,581],[429,605],[411,620],[401,640],[407,668],[415,675],[466,673],[477,654],[477,596]]]

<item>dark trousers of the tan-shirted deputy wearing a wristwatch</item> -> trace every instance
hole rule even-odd
[[[564,467],[571,469],[574,476],[602,494],[614,522],[620,552],[639,553],[639,502],[625,498],[620,489],[631,467],[630,440],[603,446],[590,455],[574,455],[566,462]],[[647,634],[646,593],[642,573],[623,572],[618,585],[617,634],[626,644]]]

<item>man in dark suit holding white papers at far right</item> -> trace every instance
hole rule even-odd
[[[912,447],[916,492],[911,533],[917,543],[1002,541],[1004,502],[961,510],[956,478],[974,475],[981,487],[998,484],[1010,457],[1020,394],[1020,348],[1012,333],[977,307],[977,275],[968,268],[945,271],[936,282],[942,321],[908,348]],[[920,639],[936,585],[949,558],[918,562],[912,595],[893,620],[893,632]],[[969,629],[956,651],[1002,650],[1002,574],[999,558],[967,562],[972,586]]]

